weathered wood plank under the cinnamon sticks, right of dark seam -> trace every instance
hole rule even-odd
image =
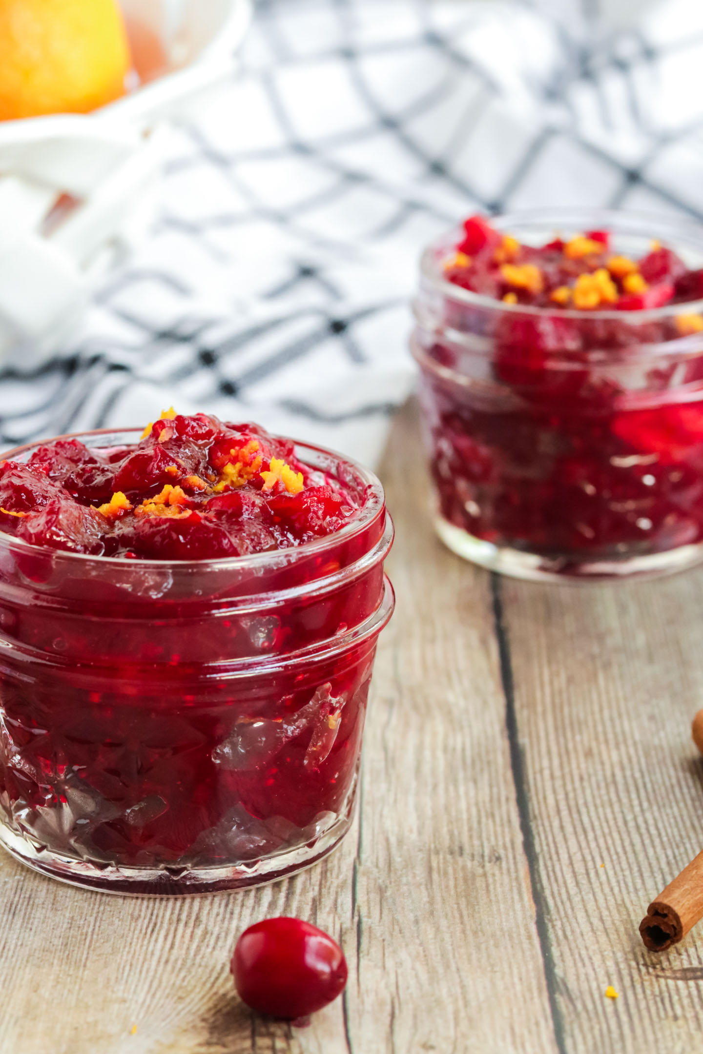
[[[703,1051],[703,931],[659,956],[638,934],[703,845],[703,571],[499,588],[565,1049]]]

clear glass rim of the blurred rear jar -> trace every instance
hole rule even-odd
[[[571,226],[580,228],[582,231],[589,229],[598,230],[601,228],[610,230],[619,226],[622,229],[623,227],[627,227],[628,221],[630,221],[631,229],[628,233],[649,238],[658,237],[661,234],[661,240],[665,248],[676,249],[676,246],[670,243],[671,236],[666,236],[665,232],[668,230],[676,234],[681,241],[688,242],[698,248],[703,257],[703,225],[657,213],[624,212],[616,209],[543,208],[516,210],[490,217],[491,225],[500,231],[505,231],[505,233],[521,225],[530,226],[539,223],[551,227],[552,223],[559,223],[560,220],[564,227]],[[657,227],[659,227],[659,231],[656,229]],[[461,227],[445,230],[443,234],[430,242],[424,250],[419,261],[423,279],[437,292],[442,293],[443,296],[456,300],[458,304],[495,312],[505,312],[507,315],[556,316],[559,318],[578,319],[581,323],[588,323],[589,319],[598,321],[612,321],[618,319],[621,323],[631,321],[633,325],[676,317],[676,315],[681,314],[703,312],[703,298],[639,311],[616,311],[613,309],[607,311],[583,311],[575,308],[542,308],[528,304],[506,304],[504,300],[497,300],[492,296],[474,293],[469,289],[464,289],[462,286],[456,286],[454,282],[448,281],[437,266],[440,259],[438,253],[455,247],[457,237],[461,237]],[[682,339],[685,339],[685,337]]]

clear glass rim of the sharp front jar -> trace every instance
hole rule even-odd
[[[0,453],[0,462],[16,460],[20,455],[47,444],[57,443],[60,440],[85,441],[90,438],[105,438],[108,436],[140,436],[142,432],[143,429],[141,428],[99,428],[83,432],[67,432],[64,435],[54,435],[51,438],[14,447],[12,450]],[[296,455],[305,465],[319,470],[321,463],[325,461],[336,462],[338,465],[350,468],[365,489],[364,504],[354,520],[346,524],[340,530],[315,539],[313,542],[305,542],[302,545],[291,546],[288,549],[272,549],[265,552],[249,553],[243,557],[218,557],[203,560],[130,560],[124,557],[99,557],[87,552],[71,552],[65,549],[53,549],[51,546],[34,545],[24,539],[16,538],[14,534],[8,534],[6,531],[0,529],[0,547],[12,544],[27,552],[27,554],[41,554],[44,557],[51,554],[56,560],[77,561],[82,564],[95,561],[101,567],[112,565],[121,569],[133,568],[136,571],[141,569],[157,570],[159,568],[163,570],[167,567],[177,568],[185,573],[189,571],[201,573],[203,569],[211,567],[218,571],[266,571],[270,568],[278,569],[285,564],[293,564],[308,557],[319,555],[328,548],[348,542],[366,530],[374,520],[384,513],[386,507],[384,488],[371,469],[366,468],[353,457],[348,457],[346,454],[341,454],[329,447],[304,443],[298,440],[293,440],[292,442],[295,444]],[[104,446],[109,445],[104,444]],[[115,445],[123,444],[116,442]],[[100,448],[97,443],[93,444],[93,447]],[[320,464],[316,465],[314,462],[311,464],[306,458],[306,454],[313,458],[317,457]],[[344,481],[340,480],[339,482],[344,485]]]

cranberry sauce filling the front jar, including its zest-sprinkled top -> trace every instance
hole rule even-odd
[[[392,611],[380,485],[204,415],[83,438],[0,477],[0,840],[125,892],[316,859],[349,822]]]

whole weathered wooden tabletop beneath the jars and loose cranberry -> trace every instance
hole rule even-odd
[[[2,1054],[703,1052],[703,925],[659,956],[638,936],[703,845],[703,568],[500,580],[434,540],[421,466],[409,408],[382,473],[397,609],[345,844],[257,891],[172,900],[0,854]],[[349,960],[308,1029],[252,1015],[228,974],[237,935],[278,914]]]

